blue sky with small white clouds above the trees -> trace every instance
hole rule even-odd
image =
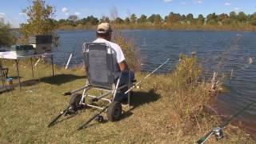
[[[32,0],[1,0],[0,18],[9,22],[13,27],[26,22],[22,9],[30,6]],[[130,14],[150,16],[160,14],[162,18],[170,12],[179,14],[198,14],[206,16],[210,13],[229,14],[230,11],[243,11],[246,14],[256,12],[256,0],[45,0],[54,6],[55,19],[68,18],[78,15],[85,18],[90,15],[102,18],[110,17],[110,11],[116,11],[118,17],[126,18]]]

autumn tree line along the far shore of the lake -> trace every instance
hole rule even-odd
[[[230,12],[230,14],[208,14],[204,17],[202,14],[198,14],[195,18],[193,14],[178,14],[170,12],[164,18],[160,14],[151,14],[146,16],[145,14],[139,17],[136,14],[131,14],[127,18],[110,18],[103,16],[102,18],[96,18],[93,15],[87,16],[86,18],[79,19],[77,15],[70,15],[69,18],[51,21],[56,26],[96,26],[100,22],[111,22],[114,24],[179,24],[179,25],[239,25],[249,24],[256,26],[256,12],[254,14],[245,14],[244,12]]]

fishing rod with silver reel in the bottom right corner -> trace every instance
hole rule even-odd
[[[227,126],[231,120],[235,117],[237,117],[238,115],[242,114],[242,112],[244,112],[245,110],[247,110],[250,106],[256,104],[256,102],[250,102],[247,106],[245,106],[242,110],[238,111],[238,113],[234,114],[232,117],[230,117],[229,119],[226,120],[226,122],[223,122],[222,125],[215,127],[213,130],[210,130],[210,132],[208,132],[206,135],[204,135],[202,138],[200,138],[196,143],[198,144],[202,144],[204,142],[206,142],[206,140],[208,138],[210,138],[210,136],[212,136],[213,134],[215,135],[216,139],[219,140],[221,138],[223,138],[223,132],[222,129]]]

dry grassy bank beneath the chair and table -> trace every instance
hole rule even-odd
[[[10,77],[15,78],[14,63],[5,65],[10,68]],[[77,131],[82,122],[95,114],[90,109],[62,118],[48,128],[50,120],[69,102],[62,93],[85,84],[84,70],[56,68],[56,76],[51,78],[50,66],[40,63],[32,81],[30,65],[21,63],[20,70],[22,91],[15,86],[15,90],[0,94],[0,143],[192,143],[220,123],[214,113],[201,113],[194,119],[178,115],[174,105],[179,105],[174,98],[182,89],[174,86],[177,75],[172,73],[152,75],[140,90],[134,90],[133,107],[126,108],[118,122],[92,122],[85,130]],[[137,73],[136,79],[145,75]],[[181,118],[187,122],[181,122]],[[224,134],[223,143],[254,143],[234,126],[227,126]],[[209,142],[215,142],[214,137]]]

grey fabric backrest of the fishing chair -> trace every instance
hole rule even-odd
[[[112,51],[111,46],[106,43],[90,42],[83,45],[86,76],[91,86],[112,89],[114,84]]]

